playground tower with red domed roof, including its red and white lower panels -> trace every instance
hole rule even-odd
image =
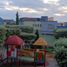
[[[5,41],[5,45],[7,46],[7,61],[8,61],[8,58],[10,58],[12,56],[12,52],[15,51],[15,48],[18,47],[18,46],[23,46],[24,45],[24,41],[16,36],[16,35],[12,35],[12,36],[9,36],[6,41]],[[9,47],[10,46],[10,47]],[[12,56],[12,58],[17,58],[17,51],[13,53],[14,55]],[[8,63],[8,62],[7,62]],[[12,63],[12,61],[11,61]]]

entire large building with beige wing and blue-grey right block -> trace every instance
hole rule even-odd
[[[19,25],[33,27],[34,30],[38,30],[40,34],[53,34],[58,23],[57,21],[53,21],[53,19],[48,21],[48,16],[42,16],[41,18],[20,18]]]

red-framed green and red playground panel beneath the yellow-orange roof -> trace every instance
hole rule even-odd
[[[35,67],[37,64],[42,64],[44,67],[46,66],[46,50],[42,51],[36,51],[34,52],[34,62],[35,62]]]

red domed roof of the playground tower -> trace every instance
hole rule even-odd
[[[21,46],[24,44],[24,41],[16,36],[16,35],[12,35],[12,36],[9,36],[5,42],[6,45],[15,45],[15,46]]]

